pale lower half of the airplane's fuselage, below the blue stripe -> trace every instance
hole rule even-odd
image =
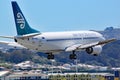
[[[33,49],[41,52],[48,52],[48,51],[64,51],[67,47],[76,44],[88,44],[91,42],[96,42],[96,40],[88,40],[88,39],[81,39],[81,40],[59,40],[59,41],[47,41],[44,40],[42,42],[39,41],[29,41],[29,40],[22,40],[18,39],[18,43],[27,47],[28,49]]]

